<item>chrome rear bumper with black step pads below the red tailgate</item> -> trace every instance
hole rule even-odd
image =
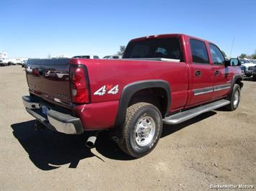
[[[30,101],[30,96],[23,96],[22,100],[26,111],[44,126],[48,127],[48,129],[63,134],[82,134],[84,132],[80,118],[52,109],[47,111],[47,116],[45,116],[40,103]]]

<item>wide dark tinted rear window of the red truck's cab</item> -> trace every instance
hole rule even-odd
[[[182,60],[178,38],[144,39],[131,41],[125,49],[123,58],[163,57]]]

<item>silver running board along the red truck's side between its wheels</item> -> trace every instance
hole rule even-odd
[[[197,108],[192,108],[187,111],[182,111],[180,113],[173,114],[172,116],[167,116],[163,119],[164,124],[180,124],[183,121],[187,121],[190,118],[194,118],[195,116],[199,116],[202,113],[206,113],[208,111],[212,111],[216,108],[221,108],[223,106],[226,106],[230,103],[230,101],[227,101],[225,99],[214,101],[212,103],[208,103],[203,106],[199,106]]]

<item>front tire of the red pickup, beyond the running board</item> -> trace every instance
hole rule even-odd
[[[236,93],[238,93],[238,98],[236,98]],[[240,85],[234,84],[233,90],[231,91],[228,100],[230,101],[229,105],[226,105],[225,108],[227,111],[234,111],[239,106],[240,96],[241,95],[241,88]],[[237,101],[236,101],[237,100]]]

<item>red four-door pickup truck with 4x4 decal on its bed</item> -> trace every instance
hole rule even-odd
[[[232,64],[232,66],[231,66]],[[122,60],[31,59],[23,96],[37,126],[64,134],[109,130],[125,153],[143,157],[156,146],[162,124],[239,105],[242,70],[219,47],[185,34],[132,39]],[[169,128],[172,128],[170,126]]]

